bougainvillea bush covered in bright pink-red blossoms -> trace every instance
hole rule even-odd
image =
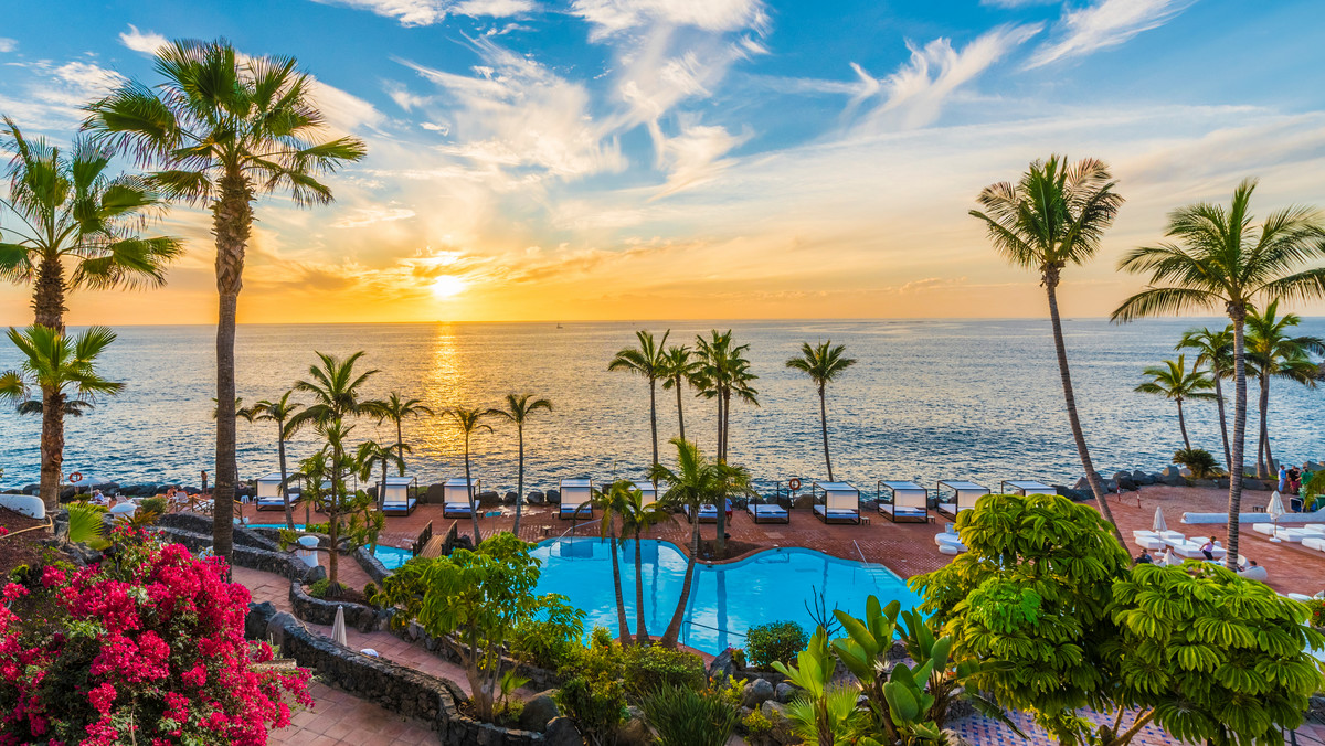
[[[121,527],[101,563],[34,575],[3,590],[0,746],[260,745],[311,705],[306,672],[244,639],[217,559]]]

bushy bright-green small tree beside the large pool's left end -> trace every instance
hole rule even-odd
[[[424,570],[419,623],[457,655],[469,681],[470,702],[480,719],[492,722],[501,712],[502,652],[518,625],[555,594],[537,596],[538,560],[530,545],[501,533],[473,551],[458,549]]]

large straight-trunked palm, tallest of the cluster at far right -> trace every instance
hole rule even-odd
[[[1325,254],[1320,215],[1305,207],[1271,213],[1252,224],[1256,182],[1244,180],[1232,204],[1198,203],[1169,215],[1173,241],[1132,249],[1120,268],[1149,274],[1150,286],[1132,295],[1110,317],[1129,322],[1161,314],[1222,307],[1234,325],[1234,437],[1228,477],[1228,559],[1238,563],[1238,515],[1242,511],[1243,452],[1247,433],[1247,354],[1244,326],[1256,298],[1320,298],[1325,268],[1297,270]]]

